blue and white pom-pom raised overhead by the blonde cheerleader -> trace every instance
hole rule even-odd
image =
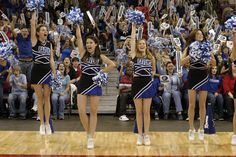
[[[125,14],[125,18],[130,22],[137,25],[142,25],[145,21],[144,13],[141,11],[128,10]]]

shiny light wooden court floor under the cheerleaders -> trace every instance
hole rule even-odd
[[[132,132],[97,132],[95,148],[86,148],[84,132],[56,132],[39,135],[32,131],[1,131],[0,157],[84,157],[84,156],[234,156],[232,133],[206,135],[190,142],[187,132],[151,132],[151,146],[136,146]]]

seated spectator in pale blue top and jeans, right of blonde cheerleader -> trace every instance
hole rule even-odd
[[[174,98],[176,112],[179,120],[183,120],[182,116],[182,103],[181,103],[181,80],[177,74],[174,73],[174,65],[172,62],[166,64],[166,73],[169,81],[164,84],[164,92],[162,94],[164,119],[168,119],[171,98]]]

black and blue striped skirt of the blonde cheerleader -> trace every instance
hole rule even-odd
[[[152,98],[155,89],[151,77],[134,77],[131,94],[134,99]]]

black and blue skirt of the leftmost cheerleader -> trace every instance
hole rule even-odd
[[[49,64],[34,64],[31,71],[31,84],[51,84],[51,67]]]

